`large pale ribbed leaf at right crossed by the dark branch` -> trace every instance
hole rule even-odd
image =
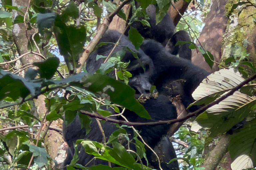
[[[192,96],[198,100],[195,105],[208,104],[244,79],[234,69],[222,69],[202,81]],[[203,127],[211,128],[211,136],[224,133],[238,122],[246,118],[255,108],[256,97],[236,91],[219,104],[207,109],[197,117],[197,122]]]

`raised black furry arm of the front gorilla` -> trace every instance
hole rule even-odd
[[[141,49],[153,60],[156,68],[153,81],[159,93],[163,95],[180,94],[185,107],[192,103],[194,99],[191,94],[210,73],[203,68],[195,66],[187,59],[170,54],[156,41],[145,40],[141,45]],[[173,87],[170,85],[177,80],[182,81],[182,87],[172,90]]]

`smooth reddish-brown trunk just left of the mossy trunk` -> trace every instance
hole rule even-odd
[[[221,60],[222,37],[227,27],[227,18],[225,5],[227,0],[212,0],[210,12],[206,18],[205,26],[199,36],[199,42],[205,50],[212,53],[214,61],[217,63]],[[208,72],[217,71],[218,64],[214,63],[212,69],[205,62],[201,52],[192,51],[192,62]]]

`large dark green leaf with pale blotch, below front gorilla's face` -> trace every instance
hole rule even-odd
[[[150,119],[145,108],[134,98],[135,90],[130,86],[101,74],[89,76],[83,84],[87,90],[106,94],[112,102],[135,112],[140,117]]]

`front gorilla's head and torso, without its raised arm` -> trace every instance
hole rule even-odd
[[[117,31],[107,31],[100,40],[100,42],[116,43],[120,36],[121,33]],[[86,63],[86,69],[88,73],[94,73],[100,67],[101,63],[103,63],[104,61],[103,58],[100,58],[96,61],[97,54],[107,56],[113,48],[113,46],[113,43],[101,46],[89,56]],[[131,61],[127,69],[133,73],[133,77],[129,79],[128,84],[136,90],[136,93],[138,95],[140,95],[141,93],[149,93],[152,82],[151,78],[154,77],[154,74],[156,73],[151,58],[147,56],[141,49],[136,50],[132,43],[125,36],[121,38],[114,52],[122,50],[123,46],[129,47],[132,51],[136,52],[138,57],[140,58],[140,62],[138,62],[138,60],[133,57],[131,52],[126,52],[122,59],[122,61],[125,62],[128,62],[129,60]],[[145,72],[143,69],[141,69],[141,63],[144,65]],[[109,76],[112,76],[111,74],[112,73],[110,72]],[[157,99],[147,100],[145,103],[143,103],[143,106],[151,116],[151,120],[140,118],[135,113],[129,110],[125,111],[124,116],[131,122],[154,122],[159,120],[170,120],[177,118],[176,108],[172,105],[167,96],[159,95]],[[173,161],[170,164],[166,163],[176,157],[172,143],[169,141],[169,138],[165,136],[167,134],[169,126],[170,125],[166,124],[157,126],[135,126],[135,128],[141,131],[141,136],[143,137],[145,142],[149,144],[151,148],[153,148],[157,153],[161,153],[161,155],[159,156],[161,158],[162,168],[165,170],[177,170],[179,169],[177,161]],[[105,135],[107,139],[109,138],[110,134],[117,129],[114,124],[111,124],[109,122],[103,123],[102,127],[105,130]],[[132,130],[130,128],[126,128],[126,130],[129,134],[131,134],[130,137],[132,137]],[[95,119],[92,119],[91,131],[87,135],[85,132],[85,128],[81,129],[78,116],[67,127],[65,125],[63,126],[63,136],[65,141],[69,145],[68,156],[64,162],[64,166],[70,164],[70,161],[72,160],[72,155],[74,154],[73,143],[77,139],[82,138],[95,140],[98,142],[102,141],[102,135],[100,133],[100,130]],[[78,149],[80,152],[79,161],[77,163],[86,165],[93,158],[93,156],[86,154],[84,152],[84,148],[81,145]],[[131,146],[131,149],[135,150],[135,147]],[[155,158],[155,155],[148,148],[146,148],[146,155],[150,165],[155,169],[158,169],[158,162]],[[143,160],[143,162],[145,163],[145,160]],[[107,162],[96,159],[95,161],[89,163],[87,166],[91,166],[93,164],[106,165]]]

